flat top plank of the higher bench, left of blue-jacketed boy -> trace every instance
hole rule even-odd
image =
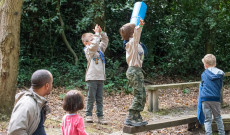
[[[173,84],[162,84],[162,85],[148,85],[146,86],[147,90],[158,90],[158,89],[168,89],[168,88],[188,88],[188,87],[197,87],[199,82],[188,82],[188,83],[173,83]]]

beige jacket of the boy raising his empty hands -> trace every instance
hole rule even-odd
[[[108,46],[108,36],[105,32],[94,34],[91,45],[84,48],[85,56],[88,61],[85,74],[85,81],[105,80],[105,63],[101,60],[99,50],[104,54]]]

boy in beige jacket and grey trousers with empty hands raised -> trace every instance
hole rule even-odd
[[[103,87],[105,77],[104,52],[108,46],[108,36],[96,25],[93,33],[84,33],[82,42],[85,45],[84,52],[87,63],[85,81],[88,87],[86,104],[86,122],[92,123],[93,104],[96,101],[98,123],[107,124],[103,118]]]

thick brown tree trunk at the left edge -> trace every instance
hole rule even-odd
[[[0,114],[10,115],[17,89],[23,0],[0,2]]]

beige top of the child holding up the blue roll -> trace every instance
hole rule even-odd
[[[142,27],[136,26],[134,29],[133,38],[126,43],[126,62],[129,66],[142,67],[144,61],[144,50],[139,44]]]

